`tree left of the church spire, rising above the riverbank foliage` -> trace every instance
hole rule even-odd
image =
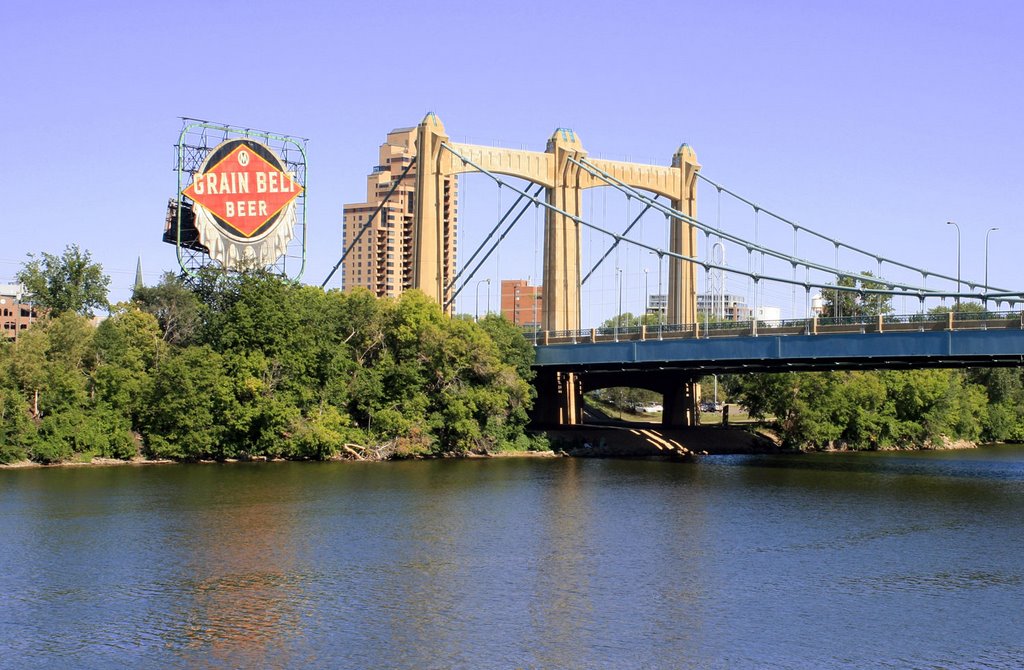
[[[25,285],[33,302],[54,313],[74,311],[92,317],[93,308],[106,306],[106,288],[111,278],[103,275],[92,255],[77,244],[65,247],[60,256],[42,253],[41,258],[29,254],[22,265],[17,281]]]

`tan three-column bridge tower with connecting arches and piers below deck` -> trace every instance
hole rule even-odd
[[[568,128],[557,129],[545,152],[481,146],[452,142],[440,119],[430,113],[417,127],[416,154],[412,286],[450,308],[455,264],[445,254],[452,249],[446,242],[456,235],[449,222],[456,217],[455,203],[445,184],[457,174],[482,169],[544,186],[546,202],[552,208],[546,208],[544,226],[543,331],[577,331],[581,327],[581,224],[572,217],[583,212],[586,189],[609,186],[613,180],[620,187],[668,198],[673,209],[687,217],[696,216],[696,173],[700,165],[687,144],[676,151],[671,166],[588,159],[579,136]],[[597,173],[582,167],[584,164]],[[669,250],[696,257],[695,228],[674,216],[669,225]],[[670,257],[667,311],[669,323],[696,323],[696,267],[692,263]],[[538,384],[542,395],[548,396],[547,402],[539,403],[546,414],[543,422],[581,421],[579,375],[558,373],[547,381],[539,379]],[[695,422],[696,395],[696,386],[689,380],[680,380],[678,392],[667,391],[674,421],[687,425]]]

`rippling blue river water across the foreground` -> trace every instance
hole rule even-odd
[[[1019,668],[1024,449],[0,471],[0,667]]]

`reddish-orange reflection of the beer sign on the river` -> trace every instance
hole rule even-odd
[[[294,664],[304,600],[294,508],[244,485],[208,489],[213,483],[206,476],[187,484],[168,501],[184,512],[184,522],[166,547],[177,554],[182,575],[166,641],[189,662]]]

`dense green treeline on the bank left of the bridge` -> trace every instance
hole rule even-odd
[[[507,321],[418,292],[166,276],[98,327],[53,310],[0,344],[0,462],[529,449],[532,357]]]

